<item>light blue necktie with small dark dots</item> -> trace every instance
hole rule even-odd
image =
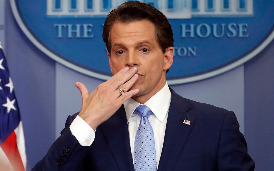
[[[140,105],[135,109],[135,112],[141,116],[134,143],[135,171],[156,171],[154,134],[148,121],[152,111],[146,105]]]

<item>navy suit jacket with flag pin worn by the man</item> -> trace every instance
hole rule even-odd
[[[158,171],[254,170],[247,144],[233,112],[185,99],[172,98]],[[91,146],[81,146],[67,118],[61,136],[33,170],[134,171],[124,106],[97,127]],[[183,124],[184,119],[191,121]]]

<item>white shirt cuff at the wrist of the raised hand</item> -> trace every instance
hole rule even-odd
[[[95,131],[79,115],[72,121],[69,129],[81,146],[90,146],[95,139]]]

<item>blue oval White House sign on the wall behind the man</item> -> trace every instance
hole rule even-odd
[[[23,32],[45,54],[80,73],[107,80],[112,74],[102,26],[108,13],[126,1],[11,0],[11,7]],[[160,10],[172,26],[170,85],[227,72],[253,58],[274,38],[271,1],[140,1]]]

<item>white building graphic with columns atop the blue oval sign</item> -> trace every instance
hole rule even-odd
[[[126,0],[47,0],[48,17],[106,17]],[[142,0],[140,0],[142,1]],[[221,17],[253,15],[253,0],[143,0],[168,18]]]

